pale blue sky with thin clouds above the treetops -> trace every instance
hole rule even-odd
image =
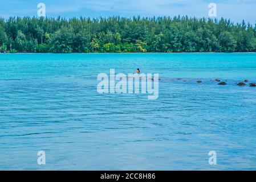
[[[209,18],[209,3],[216,3],[218,19],[256,23],[256,0],[0,0],[0,16],[37,16],[38,3],[46,5],[46,16],[65,18],[113,15]]]

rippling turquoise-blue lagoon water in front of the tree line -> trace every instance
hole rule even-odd
[[[111,68],[159,73],[159,98],[97,93]],[[256,53],[0,54],[0,169],[255,170],[245,79],[256,82]]]

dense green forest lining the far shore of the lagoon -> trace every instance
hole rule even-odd
[[[0,52],[256,52],[256,25],[227,19],[0,19]]]

